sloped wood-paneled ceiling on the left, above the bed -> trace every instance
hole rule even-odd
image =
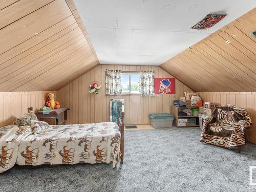
[[[72,3],[0,3],[0,91],[58,90],[99,64]]]

